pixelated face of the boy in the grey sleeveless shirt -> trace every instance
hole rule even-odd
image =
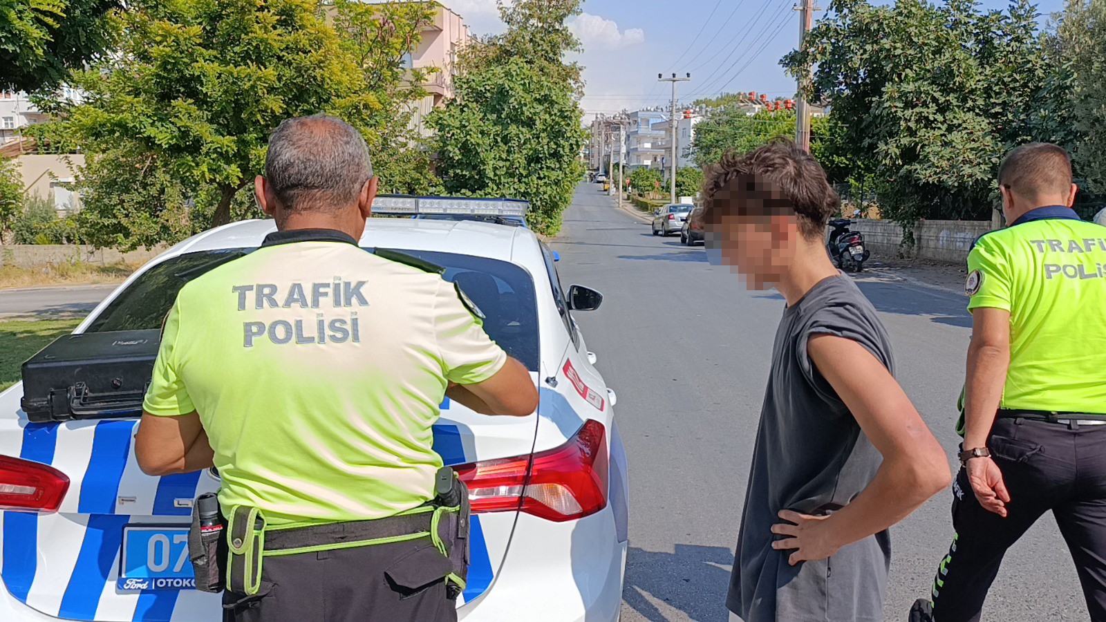
[[[795,256],[799,222],[771,183],[739,176],[714,194],[703,239],[711,263],[729,266],[751,290],[779,283]]]

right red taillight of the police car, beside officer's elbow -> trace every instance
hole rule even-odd
[[[562,522],[607,505],[606,433],[596,421],[555,449],[455,469],[469,487],[473,512],[521,510]]]

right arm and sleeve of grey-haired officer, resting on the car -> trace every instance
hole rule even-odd
[[[526,416],[538,408],[538,387],[526,366],[484,332],[480,318],[442,281],[436,299],[436,333],[447,395],[486,415]]]

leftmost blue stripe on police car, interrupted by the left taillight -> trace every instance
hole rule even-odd
[[[58,424],[29,423],[23,428],[19,457],[49,465],[54,462]],[[3,512],[3,578],[11,595],[27,602],[27,594],[38,571],[39,515],[8,510]]]

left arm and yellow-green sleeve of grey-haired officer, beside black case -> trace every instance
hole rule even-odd
[[[135,435],[135,458],[147,475],[188,473],[212,466],[211,445],[178,373],[179,329],[178,300],[165,319],[161,345]]]

